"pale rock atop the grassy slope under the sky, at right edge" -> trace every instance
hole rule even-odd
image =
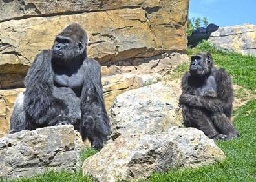
[[[256,25],[220,27],[208,41],[222,50],[256,56]]]

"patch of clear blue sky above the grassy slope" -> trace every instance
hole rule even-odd
[[[191,17],[207,17],[218,26],[256,25],[256,0],[190,0]]]

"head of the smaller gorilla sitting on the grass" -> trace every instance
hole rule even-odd
[[[209,52],[198,52],[191,56],[190,74],[193,76],[205,76],[211,72],[213,59]]]

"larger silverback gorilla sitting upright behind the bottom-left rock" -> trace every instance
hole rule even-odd
[[[43,50],[25,77],[26,91],[17,98],[10,133],[45,126],[74,125],[93,148],[109,134],[100,65],[87,59],[88,37],[78,24],[57,35],[52,50]]]

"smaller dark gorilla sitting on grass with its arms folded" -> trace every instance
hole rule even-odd
[[[231,124],[233,88],[229,75],[213,66],[209,52],[191,57],[189,72],[182,78],[180,106],[184,125],[202,130],[211,139],[239,137]]]

